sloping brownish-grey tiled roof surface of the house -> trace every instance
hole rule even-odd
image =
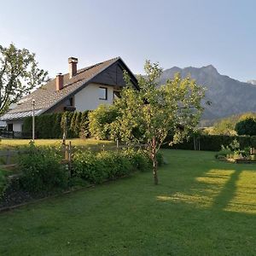
[[[35,100],[35,115],[44,113],[49,110],[49,108],[54,108],[56,104],[62,102],[68,96],[83,89],[84,85],[89,84],[96,75],[102,73],[102,71],[110,67],[116,61],[121,61],[121,64],[125,65],[121,58],[117,57],[80,69],[77,75],[71,79],[69,79],[68,73],[64,74],[64,86],[61,90],[55,90],[55,79],[51,79],[47,84],[39,87],[38,90],[21,98],[20,102],[17,102],[17,106],[10,109],[7,113],[4,113],[3,116],[0,117],[0,120],[6,121],[32,116],[32,100]],[[126,69],[130,71],[128,67],[126,67]],[[131,75],[133,76],[132,73]]]

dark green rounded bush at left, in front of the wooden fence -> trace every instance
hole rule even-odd
[[[68,174],[61,165],[61,155],[53,148],[31,145],[28,154],[20,156],[20,187],[29,192],[40,192],[67,187]]]

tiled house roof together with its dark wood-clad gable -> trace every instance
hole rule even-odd
[[[80,69],[76,76],[69,79],[69,74],[64,75],[64,86],[61,90],[55,90],[55,79],[51,79],[49,83],[42,85],[38,90],[33,91],[30,95],[23,97],[18,102],[17,107],[9,110],[0,118],[2,120],[14,119],[20,112],[29,112],[32,110],[32,99],[35,100],[35,109],[40,110],[39,114],[55,108],[67,97],[73,96],[79,90],[89,83],[99,83],[125,86],[123,71],[126,70],[131,81],[137,87],[137,79],[131,73],[130,69],[125,65],[121,58],[114,58],[108,61],[97,63],[96,65]],[[12,117],[15,114],[14,117]],[[15,118],[16,119],[16,118]]]

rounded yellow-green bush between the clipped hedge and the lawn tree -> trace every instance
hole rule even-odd
[[[111,124],[118,117],[118,109],[114,106],[100,105],[89,113],[89,130],[93,137],[108,140],[111,134]]]

